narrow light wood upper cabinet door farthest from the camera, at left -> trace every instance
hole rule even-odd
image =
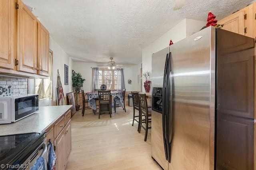
[[[38,22],[38,67],[38,74],[49,76],[49,32],[40,22]]]

